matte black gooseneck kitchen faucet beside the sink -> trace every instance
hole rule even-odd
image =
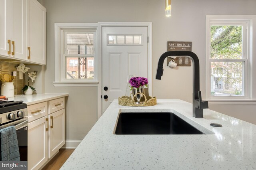
[[[199,81],[199,59],[197,55],[191,51],[167,51],[161,55],[156,70],[156,79],[160,80],[163,75],[164,59],[168,56],[188,56],[193,62],[193,116],[204,117],[203,109],[208,108],[208,101],[202,101]]]

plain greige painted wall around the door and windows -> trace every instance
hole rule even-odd
[[[191,41],[200,60],[200,85],[205,91],[205,16],[207,14],[256,14],[256,0],[172,0],[172,16],[164,16],[164,0],[43,0],[46,7],[45,92],[69,93],[66,112],[66,139],[82,139],[97,120],[95,87],[54,87],[55,22],[152,22],[152,76],[166,51],[167,41]],[[255,56],[254,56],[255,57]],[[166,63],[165,63],[166,64]],[[153,80],[158,99],[192,101],[192,67],[164,67],[162,80]],[[210,106],[216,111],[256,124],[256,106]]]

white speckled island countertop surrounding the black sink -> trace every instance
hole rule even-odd
[[[194,118],[192,104],[178,99],[157,102],[151,107],[125,107],[114,100],[61,169],[256,169],[256,125],[209,109],[204,109],[204,118]],[[177,111],[188,123],[213,134],[115,135],[120,109]]]

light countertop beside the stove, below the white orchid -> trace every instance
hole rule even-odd
[[[23,101],[27,105],[33,105],[44,101],[54,100],[61,97],[68,96],[68,93],[44,93],[34,95],[16,95],[14,97],[8,97],[8,101]]]

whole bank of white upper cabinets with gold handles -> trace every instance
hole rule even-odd
[[[46,9],[37,0],[0,0],[0,58],[46,64]]]

